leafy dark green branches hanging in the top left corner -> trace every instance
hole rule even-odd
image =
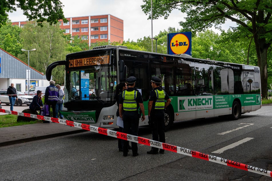
[[[23,10],[23,14],[29,19],[37,19],[38,25],[47,21],[50,25],[56,24],[59,19],[67,23],[62,10],[62,3],[59,0],[0,0],[0,27],[8,20],[8,13],[16,11],[16,8]]]

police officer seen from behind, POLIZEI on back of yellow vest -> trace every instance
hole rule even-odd
[[[134,89],[136,83],[136,77],[128,77],[128,89],[124,90],[120,96],[119,100],[119,114],[123,119],[124,123],[124,133],[130,133],[132,135],[138,136],[139,127],[139,112],[140,107],[142,111],[142,121],[145,120],[144,115],[144,104],[142,95],[140,92]],[[123,110],[123,112],[122,112]],[[138,146],[137,143],[132,142],[132,156],[138,156]],[[123,156],[128,156],[128,141],[124,140]]]

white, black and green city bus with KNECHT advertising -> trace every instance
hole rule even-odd
[[[227,60],[226,60],[227,61]],[[172,100],[166,108],[165,129],[175,121],[241,114],[261,108],[259,67],[196,59],[186,55],[165,55],[106,45],[70,53],[66,60],[51,63],[46,70],[65,66],[64,106],[67,120],[102,128],[118,128],[116,85],[127,77],[137,78],[138,89],[148,115],[153,76]],[[148,118],[139,126],[148,125]]]

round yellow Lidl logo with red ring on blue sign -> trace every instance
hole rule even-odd
[[[184,34],[176,34],[170,41],[170,47],[175,54],[185,53],[189,48],[189,39]]]

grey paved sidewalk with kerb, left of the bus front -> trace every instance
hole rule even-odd
[[[59,123],[36,123],[0,128],[0,146],[52,138],[86,130]]]

